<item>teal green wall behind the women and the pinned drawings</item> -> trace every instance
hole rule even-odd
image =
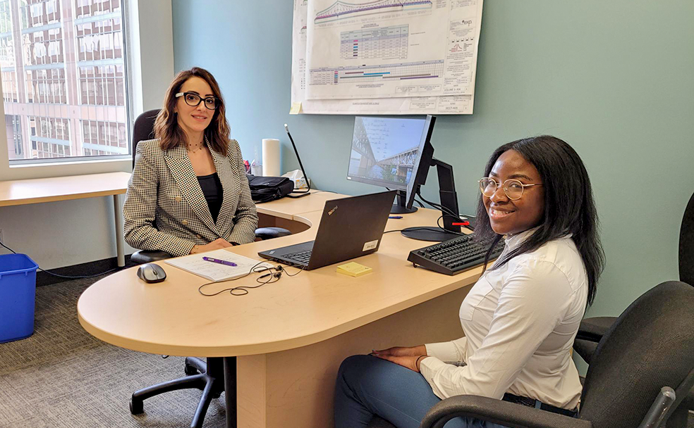
[[[284,169],[322,189],[345,180],[353,118],[290,116],[291,0],[173,0],[176,70],[219,79],[246,158],[283,142]],[[497,146],[554,134],[583,158],[602,220],[607,269],[590,315],[619,315],[643,291],[676,279],[679,222],[694,191],[694,1],[487,0],[475,114],[439,116],[434,156],[453,164],[461,210]],[[437,198],[430,175],[425,196]],[[428,199],[428,198],[427,198]]]

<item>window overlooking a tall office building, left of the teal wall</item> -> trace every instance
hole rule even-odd
[[[122,1],[0,0],[12,163],[130,153]]]

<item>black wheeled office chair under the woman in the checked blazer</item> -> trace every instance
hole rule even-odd
[[[145,111],[135,120],[135,125],[133,125],[133,168],[135,168],[135,153],[140,141],[154,138],[154,120],[157,119],[157,114],[159,114],[159,109]],[[289,234],[291,232],[281,227],[259,227],[255,229],[255,237],[263,240],[284,237]],[[138,264],[150,263],[166,258],[171,258],[171,254],[166,253],[166,251],[140,250],[130,256],[130,260]],[[202,390],[202,397],[200,397],[200,403],[197,405],[190,427],[201,428],[212,398],[218,398],[224,392],[224,359],[220,357],[207,358],[207,363],[205,363],[200,358],[186,357],[184,372],[186,374],[185,377],[135,391],[130,400],[130,413],[138,415],[144,412],[143,401],[152,396],[178,389],[197,388]],[[233,394],[235,398],[236,389],[227,391],[226,394]],[[231,402],[235,403],[236,400],[233,399]]]

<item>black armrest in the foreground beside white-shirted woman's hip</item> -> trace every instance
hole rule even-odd
[[[458,416],[475,417],[509,428],[592,428],[587,420],[480,396],[455,396],[434,405],[420,428],[442,428]]]

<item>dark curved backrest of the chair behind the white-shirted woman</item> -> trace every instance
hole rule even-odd
[[[580,419],[595,428],[637,427],[663,386],[691,389],[694,287],[659,284],[640,296],[602,337],[588,367]],[[688,384],[688,385],[687,385]]]

